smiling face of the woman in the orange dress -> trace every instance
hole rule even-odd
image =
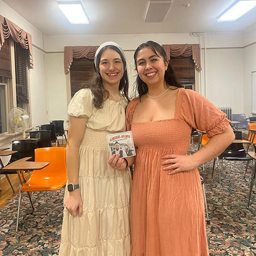
[[[138,52],[135,59],[138,75],[148,86],[164,84],[164,73],[168,67],[168,61],[164,61],[163,57],[156,53],[150,47],[145,47]]]

